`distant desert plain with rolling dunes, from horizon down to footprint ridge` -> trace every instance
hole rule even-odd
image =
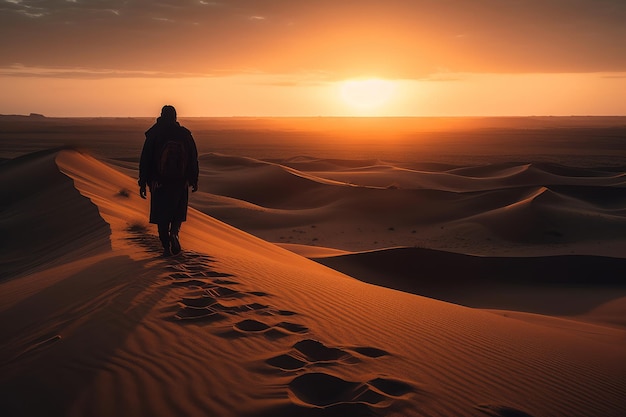
[[[78,143],[136,177],[151,122],[0,117],[0,157]],[[183,123],[204,155],[192,204],[267,241],[484,256],[626,253],[623,117]]]

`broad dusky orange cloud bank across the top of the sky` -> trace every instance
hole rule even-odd
[[[11,39],[0,66],[392,78],[622,71],[625,21],[624,0],[0,0]]]

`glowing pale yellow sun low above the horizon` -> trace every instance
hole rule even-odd
[[[376,110],[393,96],[393,81],[380,78],[352,79],[339,84],[343,101],[356,110]]]

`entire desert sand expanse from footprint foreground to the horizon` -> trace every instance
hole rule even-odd
[[[532,120],[541,141],[466,158],[462,132],[511,127],[463,125],[419,160],[245,122],[195,126],[170,258],[137,194],[149,120],[2,125],[0,414],[624,415],[622,119]]]

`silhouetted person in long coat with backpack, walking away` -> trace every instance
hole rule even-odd
[[[150,223],[156,224],[163,256],[180,253],[178,238],[187,220],[189,187],[198,191],[198,150],[191,132],[176,121],[176,109],[163,106],[146,132],[139,162],[139,195],[150,189]]]

